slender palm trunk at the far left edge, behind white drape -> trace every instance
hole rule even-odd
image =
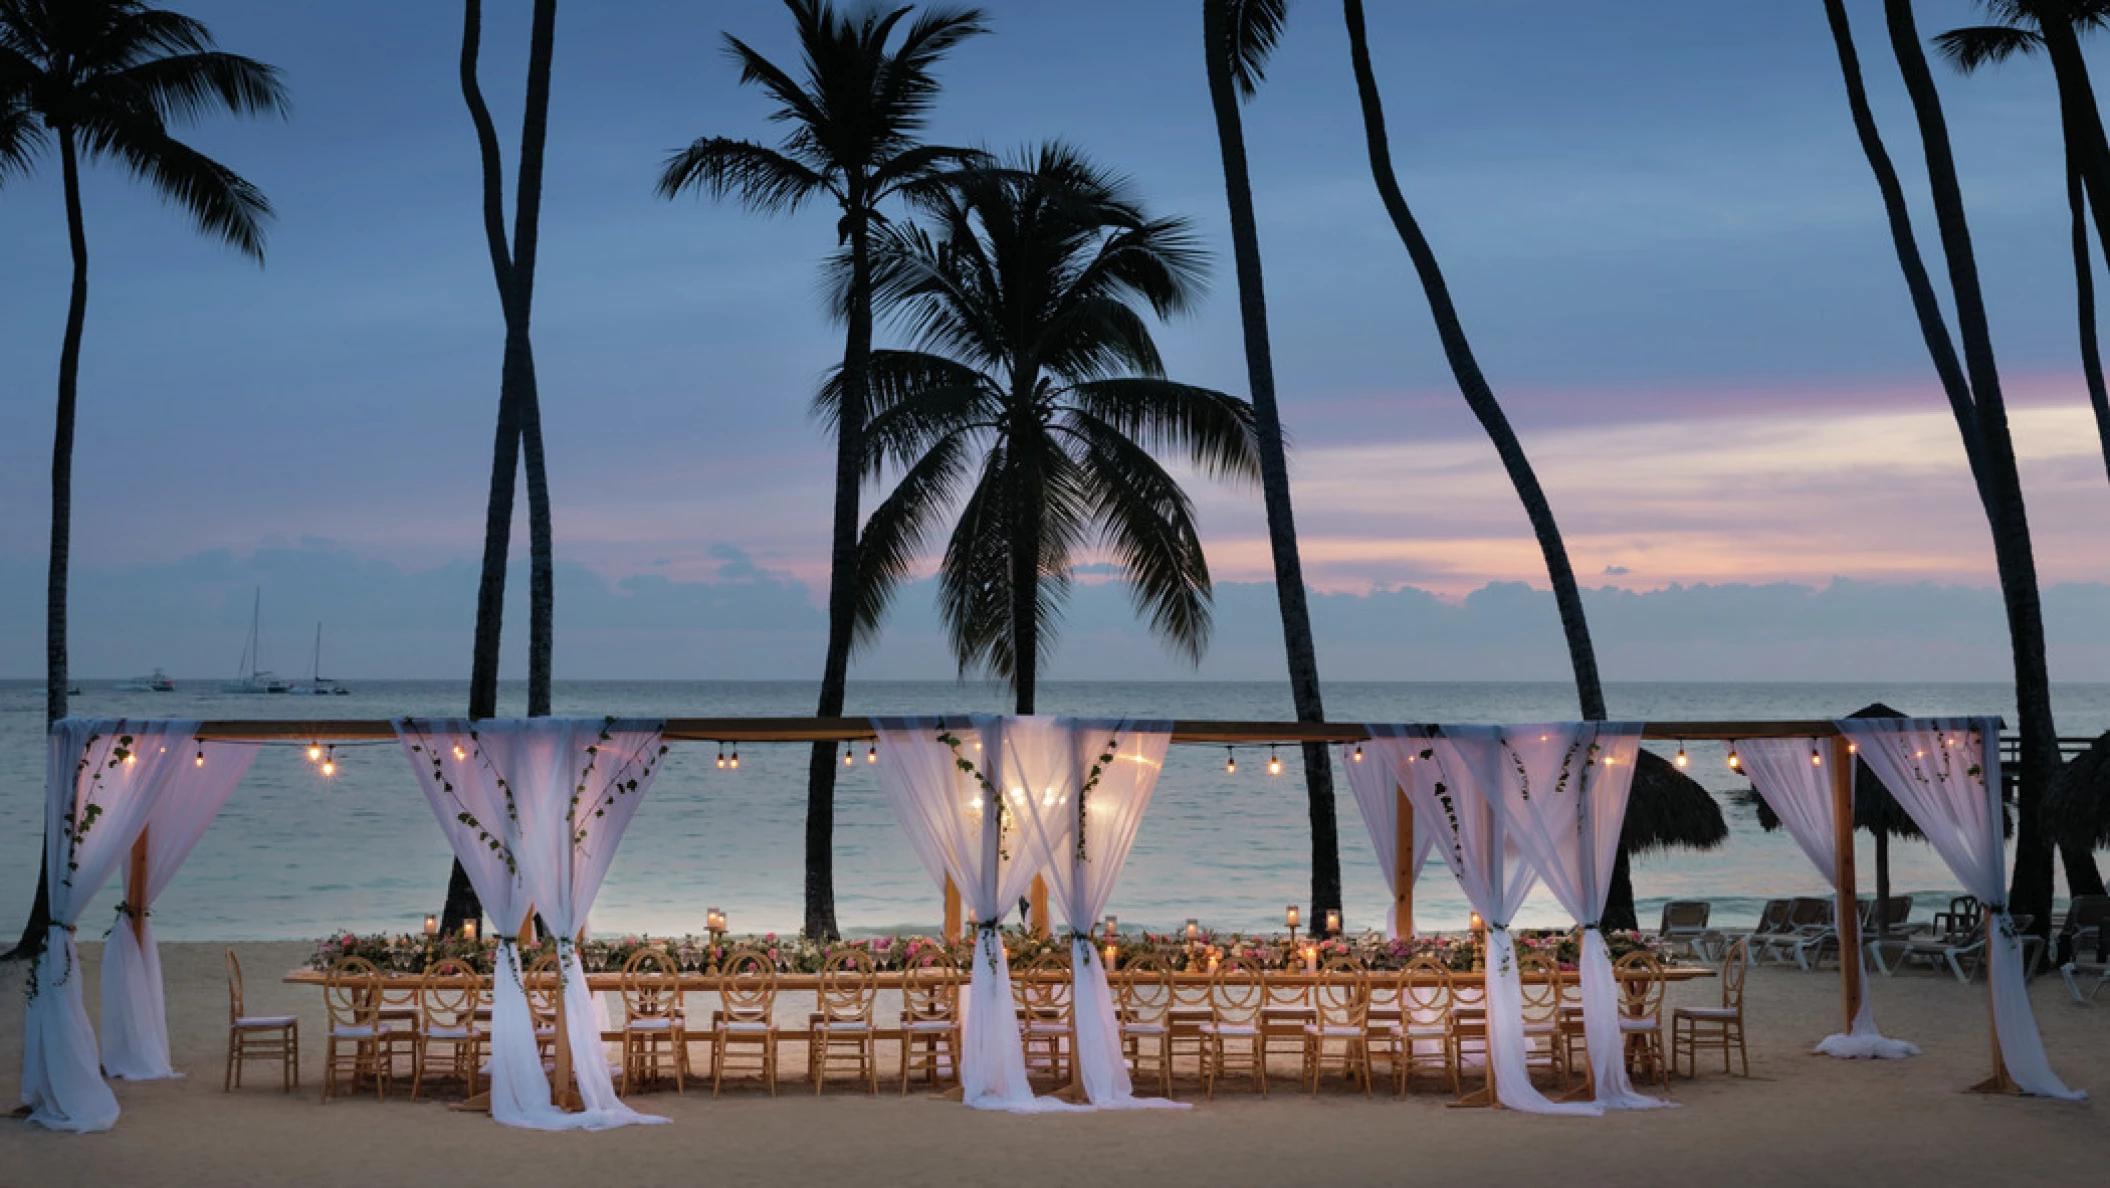
[[[59,346],[59,409],[51,430],[51,568],[44,587],[44,726],[65,717],[65,585],[74,553],[74,409],[80,395],[80,331],[89,317],[89,230],[80,215],[80,154],[74,129],[59,127],[59,173],[65,179],[65,241],[74,251],[74,287],[65,300]],[[44,848],[38,846],[38,855]],[[51,869],[38,859],[36,899],[21,939],[0,960],[36,958],[51,931]]]

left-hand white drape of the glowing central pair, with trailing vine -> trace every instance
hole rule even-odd
[[[1028,815],[1053,812],[1053,804],[1042,806],[1051,785],[1028,793],[1023,781],[1006,785],[998,779],[1006,770],[1006,722],[1000,717],[874,717],[871,726],[880,734],[880,791],[909,846],[933,882],[943,886],[952,878],[960,901],[975,914],[975,958],[960,1000],[960,1087],[966,1104],[1015,1114],[1072,1108],[1034,1097],[1025,1080],[1011,962],[996,933],[1004,909],[1038,871],[1021,823]]]

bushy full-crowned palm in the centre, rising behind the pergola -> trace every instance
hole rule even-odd
[[[1042,658],[1085,549],[1125,570],[1150,629],[1188,658],[1209,641],[1209,566],[1186,492],[1152,456],[1251,479],[1253,411],[1165,378],[1150,327],[1201,291],[1190,226],[1068,146],[958,175],[928,198],[939,234],[888,226],[876,289],[914,336],[871,357],[867,466],[901,468],[863,534],[861,627],[956,513],[939,614],[960,671],[990,671],[1034,711]],[[844,384],[827,384],[823,411]]]

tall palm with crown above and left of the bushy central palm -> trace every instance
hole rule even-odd
[[[937,103],[935,68],[950,49],[987,32],[979,8],[931,8],[888,49],[909,8],[838,13],[827,0],[785,0],[798,25],[806,80],[726,34],[741,82],[776,101],[772,120],[789,131],[776,148],[701,137],[667,158],[658,194],[684,190],[738,198],[753,211],[789,213],[829,198],[842,211],[838,243],[848,245],[850,281],[842,317],[842,401],[836,418],[836,509],[827,576],[827,656],[821,705],[842,713],[842,686],[857,641],[859,483],[865,462],[867,369],[871,365],[871,230],[882,207],[973,154],[920,143]],[[836,937],[836,749],[814,743],[806,770],[806,935]]]

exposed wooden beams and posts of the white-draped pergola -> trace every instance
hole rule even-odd
[[[952,717],[952,715],[945,715]],[[1226,722],[1226,720],[1175,720],[1171,724],[1173,743],[1194,743],[1194,745],[1300,745],[1300,743],[1361,743],[1372,734],[1357,722]],[[395,741],[395,722],[386,717],[363,717],[363,720],[217,720],[205,722],[196,732],[198,741],[207,743],[279,743],[279,741],[310,741],[310,743],[373,743],[373,741]],[[667,717],[663,728],[663,739],[669,743],[861,743],[876,739],[869,717]],[[1844,1026],[1850,1032],[1853,1021],[1861,1011],[1861,931],[1859,931],[1859,893],[1855,884],[1855,850],[1853,850],[1853,745],[1840,734],[1831,720],[1775,720],[1775,722],[1734,722],[1734,720],[1701,720],[1701,722],[1648,722],[1644,728],[1644,739],[1652,741],[1720,741],[1739,743],[1747,739],[1827,739],[1829,755],[1825,764],[1831,768],[1831,829],[1834,829],[1834,861],[1838,865],[1838,907],[1834,912],[1836,933],[1840,945],[1840,990],[1842,990],[1842,1011]],[[1998,741],[1992,741],[1998,747]],[[1397,857],[1399,871],[1395,871],[1397,890],[1397,918],[1403,933],[1412,935],[1414,928],[1414,810],[1407,806],[1405,791],[1397,791],[1399,798],[1399,844]],[[135,863],[146,863],[146,838],[139,840],[133,850]],[[146,880],[133,880],[133,895],[143,895]],[[143,907],[135,903],[133,907]],[[133,914],[133,926],[143,924],[143,912]],[[1034,884],[1034,926],[1047,931],[1047,886],[1036,880]],[[1990,926],[1990,916],[1988,916]],[[523,928],[532,928],[532,916],[523,922]],[[958,890],[947,882],[945,886],[945,935],[956,939],[960,935],[960,897]],[[1850,954],[1850,956],[1848,956]],[[561,1019],[561,1013],[559,1013]],[[561,1049],[561,1042],[559,1042]],[[1977,1085],[1975,1089],[1994,1093],[2013,1093],[2015,1087],[2007,1076],[2007,1066],[2000,1059],[2000,1038],[1992,1038],[1994,1074]]]

